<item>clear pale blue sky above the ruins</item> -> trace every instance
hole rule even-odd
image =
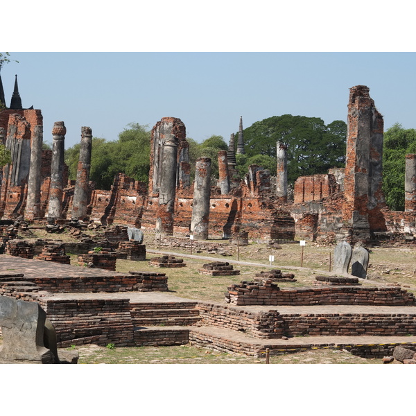
[[[270,116],[347,121],[349,88],[370,87],[385,129],[416,128],[416,53],[11,53],[1,76],[10,103],[15,73],[24,107],[67,126],[66,147],[93,135],[117,139],[128,123],[180,118],[188,137],[225,141]]]

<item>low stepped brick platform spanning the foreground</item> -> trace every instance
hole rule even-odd
[[[59,347],[89,343],[114,343],[119,347],[191,343],[259,357],[264,356],[266,349],[270,354],[286,354],[342,348],[356,355],[382,358],[392,355],[397,345],[416,345],[416,305],[406,304],[399,288],[365,288],[367,292],[363,293],[372,293],[374,289],[379,299],[387,294],[383,306],[374,302],[236,306],[189,300],[159,291],[140,292],[139,278],[164,278],[164,274],[134,273],[125,276],[1,255],[0,293],[38,302],[56,329]],[[309,296],[311,291],[331,298],[330,294],[340,297],[342,292],[357,295],[363,289],[327,286],[289,292],[295,293],[293,299],[304,300],[303,294]],[[401,296],[401,304],[388,304],[387,300],[394,300],[395,296]]]

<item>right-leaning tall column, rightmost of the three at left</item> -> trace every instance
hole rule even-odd
[[[87,215],[89,204],[89,168],[91,167],[92,130],[90,127],[81,128],[80,158],[76,172],[76,183],[73,191],[71,219],[83,220]]]

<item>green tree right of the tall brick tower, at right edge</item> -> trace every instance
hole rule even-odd
[[[404,211],[406,155],[416,153],[416,130],[395,123],[384,133],[383,191],[385,203],[393,211]]]

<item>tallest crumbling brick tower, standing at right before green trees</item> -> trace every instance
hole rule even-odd
[[[368,87],[349,90],[345,204],[343,220],[349,240],[370,241],[386,230],[382,185],[383,116],[376,110]]]

